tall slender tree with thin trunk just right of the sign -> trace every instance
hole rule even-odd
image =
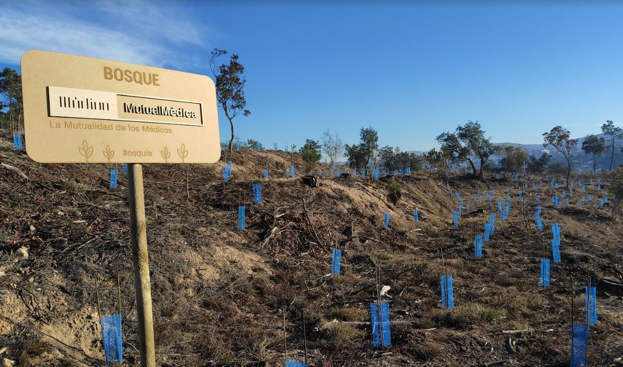
[[[210,52],[210,69],[216,80],[216,101],[225,112],[232,129],[229,141],[229,154],[234,150],[234,118],[242,113],[249,116],[251,111],[245,109],[247,100],[244,98],[244,85],[247,79],[242,77],[244,67],[238,62],[238,55],[231,55],[229,64],[216,65],[216,58],[226,55],[227,50],[214,49]]]

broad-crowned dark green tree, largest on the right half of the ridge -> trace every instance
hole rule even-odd
[[[482,179],[482,170],[487,160],[498,151],[490,138],[485,137],[485,131],[478,121],[467,121],[464,126],[458,126],[454,133],[444,132],[437,136],[437,142],[442,149],[452,153],[452,163],[469,162],[473,175]],[[480,167],[476,169],[474,160],[478,159]]]

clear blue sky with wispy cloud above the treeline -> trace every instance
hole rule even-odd
[[[240,55],[237,135],[301,146],[331,129],[428,150],[478,120],[495,142],[538,144],[623,127],[623,4],[616,2],[4,2],[0,67],[29,49],[210,75],[214,47]],[[363,4],[363,5],[362,5]],[[227,62],[223,57],[222,62]],[[221,140],[229,124],[219,118]]]

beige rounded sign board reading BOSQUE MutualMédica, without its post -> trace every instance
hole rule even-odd
[[[26,152],[42,163],[214,163],[205,75],[31,50],[22,56]]]

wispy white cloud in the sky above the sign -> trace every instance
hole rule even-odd
[[[184,46],[207,44],[202,26],[181,9],[140,2],[70,3],[61,12],[45,3],[6,6],[0,12],[0,62],[17,64],[30,49],[75,53],[153,66],[193,63]],[[171,16],[174,14],[174,16]]]

